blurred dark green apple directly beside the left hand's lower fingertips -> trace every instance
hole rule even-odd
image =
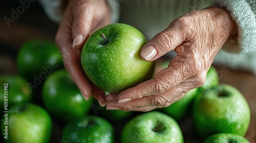
[[[86,114],[93,101],[93,98],[84,100],[65,69],[54,71],[47,78],[42,88],[42,98],[49,113],[65,122]]]

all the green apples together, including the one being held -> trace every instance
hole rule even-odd
[[[98,87],[118,93],[153,77],[155,62],[139,55],[146,42],[134,27],[106,26],[84,44],[81,66]],[[49,41],[24,43],[17,69],[19,75],[0,76],[0,85],[8,83],[7,94],[0,88],[4,142],[179,143],[184,142],[180,123],[190,115],[200,142],[249,142],[244,137],[250,123],[248,103],[238,89],[219,83],[214,66],[203,86],[149,112],[106,110],[93,98],[84,100],[61,52]]]

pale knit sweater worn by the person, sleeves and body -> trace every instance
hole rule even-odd
[[[98,1],[98,0],[97,0]],[[112,22],[138,28],[148,39],[168,27],[182,14],[213,4],[225,6],[239,27],[238,40],[230,38],[215,57],[214,63],[256,74],[256,0],[108,0]],[[61,0],[40,0],[54,21],[61,19]],[[168,54],[167,54],[168,55]]]

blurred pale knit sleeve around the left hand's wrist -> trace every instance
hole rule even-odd
[[[62,16],[63,16],[63,3],[65,0],[38,0],[41,6],[44,8],[45,13],[48,15],[48,17],[55,21],[60,22]],[[119,4],[122,1],[118,0],[106,0],[108,4],[111,7],[112,15],[111,15],[111,22],[115,23],[119,19]]]

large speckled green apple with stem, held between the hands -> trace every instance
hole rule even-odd
[[[123,23],[101,28],[84,43],[83,70],[95,85],[115,93],[151,79],[155,62],[140,57],[146,42],[139,30]]]

